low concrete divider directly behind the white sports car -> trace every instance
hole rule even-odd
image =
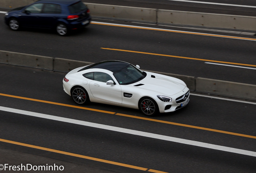
[[[93,62],[0,50],[0,63],[67,73],[74,68],[89,65]],[[170,74],[165,72],[156,73],[180,78],[187,84],[190,91],[256,101],[256,85],[253,84]]]

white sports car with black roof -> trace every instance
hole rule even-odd
[[[70,71],[63,88],[79,105],[89,101],[118,105],[139,109],[146,116],[188,104],[190,92],[182,80],[139,68],[117,60],[98,62]]]

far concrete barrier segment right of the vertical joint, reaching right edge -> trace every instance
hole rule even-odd
[[[256,17],[157,10],[158,24],[256,31]]]

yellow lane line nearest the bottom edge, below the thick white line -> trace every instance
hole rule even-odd
[[[56,149],[49,149],[49,148],[45,148],[45,147],[39,147],[39,146],[36,146],[36,145],[30,145],[30,144],[15,142],[15,141],[9,141],[9,140],[6,140],[6,139],[0,139],[0,141],[5,142],[5,143],[10,143],[10,144],[15,144],[15,145],[21,145],[21,146],[29,147],[29,148],[40,149],[40,150],[44,150],[44,151],[50,151],[50,152],[53,152],[53,153],[60,153],[60,154],[69,155],[69,156],[73,156],[73,157],[79,157],[79,158],[83,158],[83,159],[89,159],[89,160],[93,160],[93,161],[109,163],[109,164],[112,164],[112,165],[118,165],[118,166],[122,166],[122,167],[138,169],[138,170],[142,170],[142,171],[153,170],[153,169],[147,169],[147,168],[143,168],[143,167],[128,165],[128,164],[124,164],[124,163],[108,161],[108,160],[104,160],[104,159],[97,159],[95,157],[89,157],[89,156],[85,156],[85,155],[78,155],[78,154],[69,153],[69,152],[66,152],[66,151],[60,151],[60,150],[56,150]],[[157,170],[153,170],[153,171],[155,171],[155,173],[165,173],[165,172],[157,171]]]

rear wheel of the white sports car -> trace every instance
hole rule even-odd
[[[71,91],[71,96],[78,105],[84,105],[90,101],[89,95],[83,87],[74,87]]]

